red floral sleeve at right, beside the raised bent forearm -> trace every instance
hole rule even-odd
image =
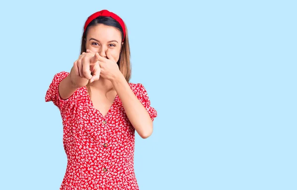
[[[140,102],[147,109],[148,114],[152,120],[157,116],[157,111],[150,106],[150,100],[148,98],[148,92],[143,84],[138,83],[136,87],[136,96],[140,100]]]

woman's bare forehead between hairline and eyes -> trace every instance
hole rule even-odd
[[[88,29],[87,38],[96,38],[98,40],[121,40],[122,35],[121,32],[112,26],[106,26],[103,24],[99,24],[96,26],[91,26]]]

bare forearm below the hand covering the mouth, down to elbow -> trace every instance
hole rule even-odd
[[[148,111],[131,90],[123,75],[114,78],[112,84],[133,127],[143,139],[148,138],[153,129]]]

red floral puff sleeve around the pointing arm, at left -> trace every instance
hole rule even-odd
[[[77,93],[75,92],[68,99],[65,99],[65,100],[61,99],[59,94],[59,84],[68,75],[69,73],[67,72],[60,72],[55,74],[49,85],[49,89],[46,93],[46,102],[52,101],[53,104],[56,107],[58,107],[60,111],[70,108],[70,106],[74,104],[75,97],[76,97],[75,94]]]

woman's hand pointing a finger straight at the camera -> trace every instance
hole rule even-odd
[[[83,52],[79,58],[73,63],[71,70],[71,81],[77,87],[86,86],[90,80],[93,82],[99,80],[99,53]]]

